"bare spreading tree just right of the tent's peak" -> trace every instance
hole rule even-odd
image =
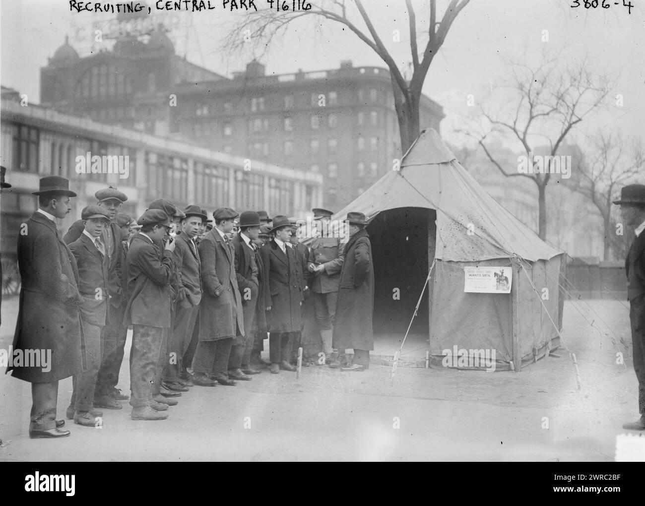
[[[526,177],[538,190],[538,233],[546,238],[546,186],[551,179],[550,168],[540,170],[531,158],[542,146],[548,146],[549,157],[562,154],[565,139],[580,122],[599,108],[609,93],[606,75],[595,75],[585,57],[577,64],[563,63],[555,58],[542,58],[535,68],[526,63],[509,62],[510,84],[497,86],[502,97],[491,97],[476,108],[478,119],[486,125],[464,131],[474,137],[484,152],[506,177]],[[479,130],[479,132],[477,132]],[[488,146],[488,138],[502,136],[519,144],[526,153],[531,173],[518,167],[506,167],[495,159]],[[552,160],[552,158],[551,158]]]

